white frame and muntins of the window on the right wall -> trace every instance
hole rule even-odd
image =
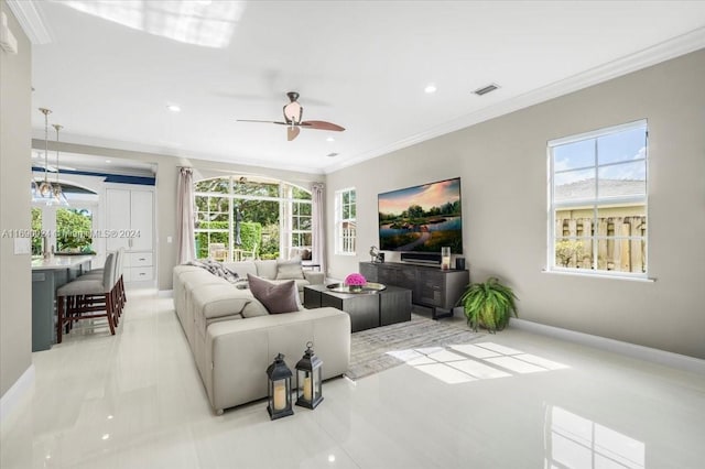
[[[629,131],[643,129],[644,131],[644,155],[643,157],[636,160],[622,160],[618,162],[599,163],[599,151],[597,143],[599,138],[607,135]],[[555,170],[554,149],[577,142],[585,142],[594,140],[595,149],[593,150],[594,162],[589,166],[576,166],[567,170]],[[546,242],[546,272],[550,273],[565,273],[586,276],[604,276],[612,279],[628,279],[628,280],[649,280],[649,126],[647,119],[640,119],[632,122],[627,122],[618,126],[611,126],[590,132],[570,135],[561,139],[550,140],[546,144],[546,157],[547,157],[547,242]],[[599,195],[599,171],[605,167],[625,165],[634,162],[643,162],[644,174],[644,194],[643,195],[622,195],[603,197]],[[575,200],[557,201],[555,200],[555,176],[556,174],[577,172],[577,171],[594,171],[595,179],[595,195],[589,198],[582,198]],[[633,234],[600,234],[595,229],[595,223],[598,220],[600,209],[614,208],[614,207],[628,207],[628,206],[643,206],[643,216],[646,218],[646,228],[642,236]],[[587,208],[586,208],[587,207]],[[592,209],[593,211],[593,226],[589,236],[564,236],[563,233],[556,233],[556,212],[565,209]],[[564,239],[589,239],[592,248],[592,266],[589,269],[579,266],[563,266],[556,262],[556,241]],[[599,246],[600,241],[641,241],[643,243],[643,263],[642,272],[626,272],[619,270],[598,269],[599,266]],[[609,246],[609,244],[608,244]]]

